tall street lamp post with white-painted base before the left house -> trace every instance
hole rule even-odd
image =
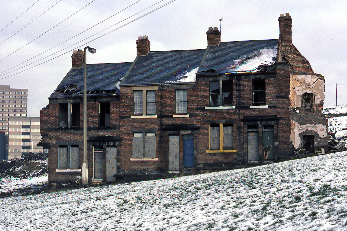
[[[94,54],[96,49],[84,47],[84,79],[83,79],[83,164],[82,164],[82,184],[88,184],[88,161],[87,161],[87,49]]]

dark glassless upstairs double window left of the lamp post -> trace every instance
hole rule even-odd
[[[59,127],[79,127],[79,103],[59,104]]]

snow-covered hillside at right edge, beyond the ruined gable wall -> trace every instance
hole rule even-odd
[[[328,118],[329,140],[347,140],[347,106],[324,107],[323,114]]]

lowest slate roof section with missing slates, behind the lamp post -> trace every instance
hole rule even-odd
[[[87,64],[87,94],[119,94],[119,83],[131,64]],[[83,77],[83,68],[72,68],[50,97],[83,95]]]

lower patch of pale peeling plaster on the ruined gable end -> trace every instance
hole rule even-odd
[[[305,130],[311,130],[316,133],[318,133],[319,137],[327,137],[327,126],[323,124],[305,124],[301,125],[297,123],[294,120],[290,121],[290,141],[293,143],[294,148],[298,149],[302,145],[302,140],[299,136],[300,133],[304,132]]]

